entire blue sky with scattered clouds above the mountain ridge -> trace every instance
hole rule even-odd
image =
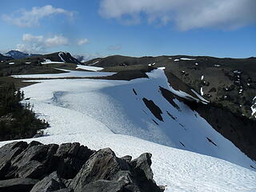
[[[214,3],[213,3],[214,2]],[[256,56],[254,0],[2,1],[0,51]]]

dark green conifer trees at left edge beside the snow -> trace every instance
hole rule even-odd
[[[16,90],[14,83],[0,87],[0,141],[31,138],[49,126],[35,117],[30,103],[22,105],[23,99],[23,92]]]

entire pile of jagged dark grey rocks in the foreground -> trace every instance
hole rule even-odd
[[[79,143],[12,142],[0,148],[0,192],[160,192],[151,154],[118,158]]]

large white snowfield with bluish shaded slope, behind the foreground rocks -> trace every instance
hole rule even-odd
[[[46,130],[50,136],[28,140],[81,142],[95,150],[110,147],[119,157],[150,152],[154,179],[158,185],[167,185],[166,191],[256,191],[256,172],[242,167],[255,166],[254,162],[185,104],[175,99],[180,109],[170,106],[159,92],[158,86],[170,88],[162,70],[148,75],[129,82],[43,80],[23,88],[35,112],[51,125]],[[144,97],[159,106],[163,122],[146,108]]]

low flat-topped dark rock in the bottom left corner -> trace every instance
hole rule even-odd
[[[32,178],[13,178],[0,181],[1,192],[29,192],[38,182]]]

